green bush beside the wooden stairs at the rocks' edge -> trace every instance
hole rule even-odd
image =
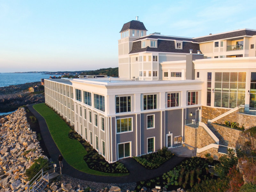
[[[35,162],[25,171],[26,176],[28,177],[28,180],[31,180],[33,177],[36,176],[36,174],[43,169],[47,171],[49,169],[49,162],[47,159],[44,159],[42,157],[39,157],[35,160]]]

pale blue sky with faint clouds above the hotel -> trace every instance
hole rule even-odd
[[[118,67],[123,24],[199,37],[256,29],[256,1],[0,0],[0,73]]]

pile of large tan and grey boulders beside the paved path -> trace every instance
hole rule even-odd
[[[0,192],[18,191],[27,182],[25,170],[42,154],[36,132],[29,129],[24,108],[0,119]]]

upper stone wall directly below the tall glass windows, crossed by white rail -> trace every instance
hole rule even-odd
[[[207,123],[207,119],[214,119],[215,117],[220,116],[228,111],[229,109],[202,106],[202,122]],[[239,124],[239,127],[244,126],[244,129],[249,129],[256,126],[256,116],[238,113],[238,110],[218,119],[214,123],[225,124],[225,121],[236,122]]]

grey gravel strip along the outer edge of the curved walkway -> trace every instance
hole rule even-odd
[[[90,187],[92,190],[100,190],[104,188],[110,188],[111,186],[118,186],[122,191],[130,190],[133,191],[136,187],[136,182],[130,183],[98,183],[92,181],[79,180],[73,177],[70,177],[66,174],[60,176],[60,182],[62,183],[70,183],[72,186],[77,187],[80,185],[81,187]]]

